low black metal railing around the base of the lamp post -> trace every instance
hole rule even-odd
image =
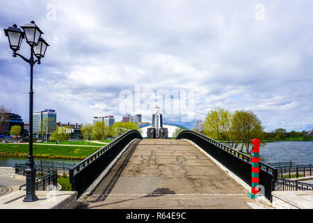
[[[15,174],[26,176],[25,169],[26,164],[15,164]],[[36,167],[36,176],[39,177],[35,178],[35,190],[51,190],[51,185],[54,187],[58,185],[58,173],[55,169]],[[22,190],[22,187],[26,187],[26,184],[21,185],[19,190]]]

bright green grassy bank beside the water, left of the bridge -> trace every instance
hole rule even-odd
[[[50,145],[33,145],[34,157],[45,158],[62,158],[83,160],[89,155],[98,151],[99,147],[95,146],[50,146]],[[28,144],[0,144],[0,155],[17,155],[28,156],[29,145]]]

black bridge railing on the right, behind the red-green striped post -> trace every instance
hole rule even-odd
[[[199,132],[185,130],[178,134],[176,139],[188,139],[200,146],[204,151],[209,153],[224,167],[239,176],[248,185],[251,185],[251,160],[252,157],[236,151],[225,144],[211,139]],[[275,182],[278,178],[278,169],[264,162],[259,162],[259,185],[264,186],[264,196],[272,199],[271,192],[275,189]]]

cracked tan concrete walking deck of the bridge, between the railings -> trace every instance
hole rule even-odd
[[[259,206],[247,192],[188,141],[143,139],[127,149],[79,208]]]

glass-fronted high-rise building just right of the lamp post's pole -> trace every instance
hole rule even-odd
[[[47,118],[47,133],[54,132],[56,130],[56,110],[45,109],[44,111],[35,112],[33,114],[33,134],[38,134],[40,130],[45,128],[42,126],[43,122]]]

